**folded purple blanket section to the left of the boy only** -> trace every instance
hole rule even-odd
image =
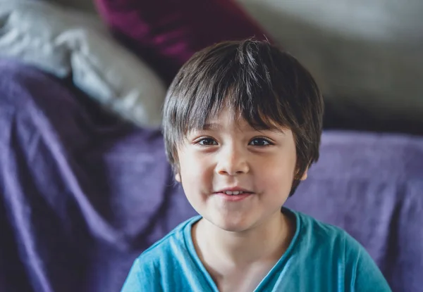
[[[194,214],[170,198],[159,131],[39,70],[0,60],[0,128],[0,291],[119,291],[133,258]]]

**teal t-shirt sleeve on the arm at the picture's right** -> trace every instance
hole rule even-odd
[[[384,275],[364,247],[350,236],[345,241],[347,260],[350,262],[351,291],[390,292]]]

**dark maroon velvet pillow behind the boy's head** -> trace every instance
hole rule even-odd
[[[269,39],[232,0],[95,0],[112,32],[168,83],[193,53],[224,40]]]

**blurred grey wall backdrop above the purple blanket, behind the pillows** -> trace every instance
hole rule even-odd
[[[92,1],[55,2],[96,11]],[[423,132],[422,1],[238,3],[313,73],[331,106],[328,126]]]

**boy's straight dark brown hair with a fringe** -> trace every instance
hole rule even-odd
[[[258,131],[292,132],[292,195],[319,158],[323,100],[309,72],[290,54],[252,39],[222,42],[192,56],[173,80],[164,105],[166,153],[178,180],[179,154],[188,134],[207,129],[223,111]]]

